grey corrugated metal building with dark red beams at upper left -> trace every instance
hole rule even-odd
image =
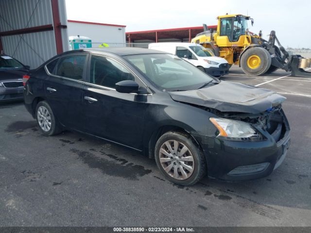
[[[64,0],[0,0],[0,50],[34,68],[68,47]]]

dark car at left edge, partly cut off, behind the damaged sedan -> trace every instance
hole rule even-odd
[[[23,100],[23,75],[29,71],[11,56],[0,54],[0,101]]]

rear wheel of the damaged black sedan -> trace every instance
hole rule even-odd
[[[38,102],[35,108],[35,118],[41,133],[52,136],[62,132],[62,129],[47,101]]]

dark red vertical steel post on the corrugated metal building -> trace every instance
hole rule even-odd
[[[56,42],[56,53],[60,54],[63,52],[63,42],[62,42],[61,23],[58,9],[58,0],[51,0],[51,3],[52,3],[52,16],[53,16],[55,42]]]

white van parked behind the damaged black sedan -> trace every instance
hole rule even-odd
[[[162,42],[151,43],[148,49],[173,53],[192,65],[213,76],[228,73],[229,64],[222,57],[216,57],[211,50],[194,43]]]

